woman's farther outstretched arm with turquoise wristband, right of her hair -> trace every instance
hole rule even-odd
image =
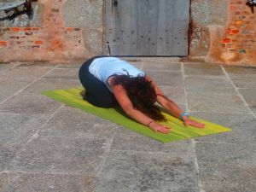
[[[172,116],[176,117],[177,119],[180,119],[180,115],[183,113],[183,110],[178,108],[177,104],[175,102],[172,102],[172,100],[168,99],[162,90],[160,90],[160,88],[157,86],[157,84],[155,84],[148,76],[146,77],[146,79],[148,81],[151,81],[153,86],[154,86],[154,90],[156,93],[156,100],[157,102],[160,103],[161,106],[163,106],[163,108],[166,108],[166,110],[172,114]],[[195,120],[189,119],[189,117],[187,116],[183,116],[183,122],[184,125],[188,126],[188,125],[192,125],[198,128],[204,128],[204,124],[201,124]]]

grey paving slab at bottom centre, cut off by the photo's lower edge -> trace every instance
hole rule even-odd
[[[96,192],[198,191],[192,154],[108,152]]]

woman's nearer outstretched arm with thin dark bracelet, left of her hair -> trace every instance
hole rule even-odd
[[[131,117],[131,119],[135,119],[137,122],[143,125],[147,125],[153,131],[159,131],[166,134],[170,132],[170,127],[158,124],[154,121],[154,119],[149,118],[141,111],[137,110],[136,108],[133,108],[132,103],[129,97],[127,96],[123,86],[120,84],[113,85],[111,81],[112,80],[109,79],[108,82],[111,88],[113,89],[113,95],[115,96],[117,102],[119,102],[120,107],[123,108],[125,113],[129,117]]]

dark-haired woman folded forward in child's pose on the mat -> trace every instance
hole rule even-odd
[[[160,125],[164,121],[159,102],[172,116],[182,119],[183,124],[203,128],[204,125],[189,119],[188,113],[164,96],[160,88],[142,71],[128,62],[115,57],[96,56],[85,61],[79,70],[79,79],[84,86],[84,100],[100,108],[120,106],[137,122],[153,131],[168,134],[171,127]]]

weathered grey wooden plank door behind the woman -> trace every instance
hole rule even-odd
[[[104,54],[188,55],[189,0],[105,0]]]

